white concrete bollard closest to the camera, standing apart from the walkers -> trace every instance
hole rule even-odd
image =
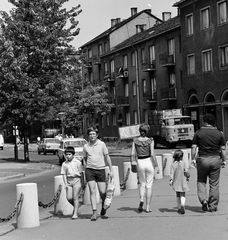
[[[23,202],[17,209],[17,228],[32,228],[40,226],[38,193],[36,183],[21,183],[16,185],[17,200],[23,193]]]

